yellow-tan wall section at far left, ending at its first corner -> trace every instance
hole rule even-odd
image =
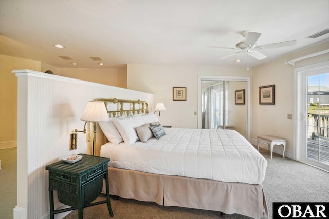
[[[17,138],[17,77],[14,69],[40,71],[41,62],[0,55],[0,149],[13,147]]]

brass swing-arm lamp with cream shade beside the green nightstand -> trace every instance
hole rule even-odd
[[[81,116],[82,121],[86,121],[84,124],[83,131],[78,131],[75,129],[75,133],[71,134],[71,143],[74,143],[73,145],[70,143],[70,148],[75,147],[77,148],[77,132],[83,132],[86,133],[86,124],[87,122],[92,122],[93,127],[93,135],[92,135],[92,152],[93,155],[95,155],[95,145],[96,145],[96,124],[95,122],[102,122],[102,121],[108,121],[108,114],[105,107],[104,102],[102,101],[89,101],[86,108],[84,109],[84,112]],[[73,136],[72,136],[73,135]],[[72,140],[73,138],[73,140]]]

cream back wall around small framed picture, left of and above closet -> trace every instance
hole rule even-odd
[[[155,103],[165,104],[167,111],[159,117],[163,125],[197,128],[198,75],[251,76],[251,71],[245,67],[128,64],[127,88],[154,93]],[[173,101],[173,87],[187,87],[187,101]]]

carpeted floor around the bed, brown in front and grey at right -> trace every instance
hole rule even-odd
[[[268,161],[263,188],[267,200],[269,216],[272,217],[273,202],[327,202],[329,200],[329,173],[306,164],[283,159],[267,150],[260,151]],[[100,195],[98,199],[104,199]],[[84,219],[105,218],[220,218],[220,213],[199,209],[164,207],[152,202],[136,200],[113,200],[114,217],[110,217],[106,204],[84,209]],[[78,211],[72,211],[65,219],[78,218]],[[249,218],[239,214],[226,215],[225,218]]]

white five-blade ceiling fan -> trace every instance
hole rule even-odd
[[[284,41],[284,42],[279,42],[279,43],[272,43],[272,44],[265,44],[265,45],[257,46],[256,42],[257,42],[258,38],[261,36],[261,33],[243,31],[241,33],[241,35],[243,37],[245,37],[246,39],[237,43],[235,45],[235,48],[212,46],[213,48],[239,50],[238,52],[226,55],[222,58],[219,58],[218,60],[223,60],[225,58],[231,57],[231,56],[241,53],[241,52],[247,53],[248,55],[250,55],[258,60],[262,60],[264,58],[267,58],[267,56],[264,55],[263,53],[259,52],[258,50],[273,49],[273,48],[286,47],[286,46],[295,46],[297,44],[297,41]]]

